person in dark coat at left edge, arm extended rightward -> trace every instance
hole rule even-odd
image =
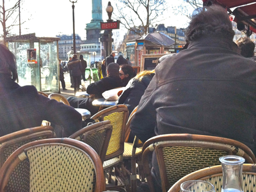
[[[70,106],[39,95],[35,86],[19,86],[15,56],[0,44],[0,136],[38,127],[42,120],[63,127],[70,136],[82,127],[81,115]]]

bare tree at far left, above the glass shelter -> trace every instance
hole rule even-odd
[[[12,6],[6,8],[5,0],[0,4],[0,22],[3,27],[3,34],[1,34],[1,38],[3,38],[3,44],[6,44],[6,37],[11,34],[13,26],[18,26],[17,19],[19,17],[19,4],[21,0],[16,1],[16,3],[12,4]],[[10,4],[10,3],[9,3]]]

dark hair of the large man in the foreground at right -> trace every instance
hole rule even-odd
[[[205,36],[233,40],[235,32],[228,13],[218,5],[207,6],[189,22],[186,42],[193,42]]]

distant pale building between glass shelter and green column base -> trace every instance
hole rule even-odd
[[[56,35],[60,38],[59,44],[59,58],[60,60],[68,61],[67,52],[73,50],[73,34],[71,35]],[[76,34],[76,51],[80,50],[80,45],[83,43],[81,37]]]

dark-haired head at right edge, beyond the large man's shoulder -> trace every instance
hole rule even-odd
[[[241,49],[241,55],[244,56],[244,58],[252,58],[254,56],[255,44],[250,38],[240,37],[236,44]]]

